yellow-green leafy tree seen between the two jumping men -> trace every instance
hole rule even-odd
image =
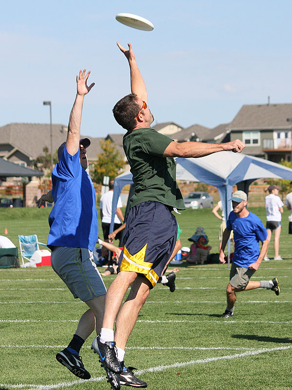
[[[103,152],[98,155],[91,174],[92,180],[98,184],[102,184],[104,176],[110,176],[110,180],[113,180],[125,166],[123,157],[110,139],[101,140],[100,146]]]

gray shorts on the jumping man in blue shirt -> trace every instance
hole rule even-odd
[[[87,248],[54,247],[51,254],[53,270],[73,293],[73,297],[83,302],[107,292],[92,259],[92,252]]]

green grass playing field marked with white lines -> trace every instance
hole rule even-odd
[[[0,209],[0,234],[17,243],[18,234],[37,234],[46,242],[49,209]],[[265,221],[264,208],[251,209]],[[126,364],[153,390],[291,390],[292,254],[288,212],[283,215],[283,261],[263,262],[254,280],[275,276],[281,294],[257,289],[237,294],[235,316],[225,310],[227,265],[181,266],[177,289],[159,284],[140,312],[128,340]],[[178,215],[183,246],[198,226],[218,252],[219,223],[210,209]],[[269,250],[273,257],[273,248]],[[113,276],[104,278],[108,287]],[[74,300],[51,267],[0,269],[0,390],[110,389],[90,349],[81,350],[91,372],[79,380],[55,360],[67,346],[86,305]]]

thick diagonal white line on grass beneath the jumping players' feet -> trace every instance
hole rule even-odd
[[[191,366],[194,364],[204,364],[204,363],[210,363],[210,362],[216,362],[219,360],[231,360],[231,359],[237,359],[241,357],[247,357],[247,356],[255,356],[259,355],[261,353],[268,353],[268,352],[274,352],[274,351],[284,351],[291,349],[292,346],[285,346],[285,347],[277,347],[277,348],[262,348],[259,350],[253,350],[253,351],[245,351],[242,353],[235,353],[233,355],[225,355],[225,356],[217,356],[217,357],[209,357],[206,359],[198,359],[198,360],[190,360],[187,362],[177,362],[174,364],[169,364],[169,365],[160,365],[157,367],[149,367],[148,369],[145,370],[137,370],[137,375],[142,375],[146,372],[159,372],[159,371],[164,371],[164,370],[169,370],[169,369],[177,369],[177,368],[182,368],[186,366]],[[101,380],[105,379],[104,376],[99,376],[99,377],[93,377],[88,380],[88,382],[100,382]],[[84,384],[84,381],[82,379],[71,381],[71,382],[60,382],[52,385],[32,385],[32,384],[17,384],[17,385],[9,385],[9,384],[0,384],[1,388],[6,388],[6,389],[23,389],[26,388],[27,390],[52,390],[52,389],[58,389],[60,387],[69,387],[73,386],[76,384]]]

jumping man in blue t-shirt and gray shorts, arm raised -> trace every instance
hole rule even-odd
[[[38,199],[55,202],[49,216],[48,247],[52,250],[51,264],[55,273],[66,283],[74,298],[89,309],[81,316],[77,330],[68,347],[56,354],[56,359],[74,375],[89,379],[79,351],[96,329],[99,334],[105,305],[106,288],[93,263],[92,250],[98,239],[95,190],[86,172],[88,138],[80,140],[80,124],[84,96],[94,83],[87,86],[90,72],[76,77],[77,95],[70,114],[67,140],[58,149],[58,163],[52,172],[53,189]]]

